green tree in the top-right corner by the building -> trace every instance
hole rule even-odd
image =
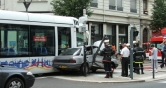
[[[151,18],[151,30],[160,31],[166,27],[166,0],[155,0]]]

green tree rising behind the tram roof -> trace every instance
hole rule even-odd
[[[92,0],[53,0],[53,13],[61,16],[72,16],[79,18],[83,16],[83,9],[86,9],[86,14],[91,16],[93,11],[90,9]]]

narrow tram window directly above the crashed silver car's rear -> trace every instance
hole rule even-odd
[[[58,27],[58,55],[66,48],[71,48],[71,29]]]

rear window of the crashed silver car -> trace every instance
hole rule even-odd
[[[81,52],[81,48],[68,48],[60,55],[79,55]]]

